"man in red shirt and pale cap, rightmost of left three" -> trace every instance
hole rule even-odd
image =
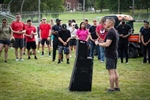
[[[40,24],[40,39],[42,44],[42,56],[44,56],[44,44],[46,42],[49,56],[51,55],[50,52],[50,35],[51,35],[51,26],[46,22],[46,18],[42,19],[42,23]]]

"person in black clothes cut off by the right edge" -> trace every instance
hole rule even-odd
[[[143,63],[146,63],[146,55],[148,51],[148,62],[150,64],[150,27],[149,22],[144,22],[144,29],[141,31],[141,41],[143,44]]]

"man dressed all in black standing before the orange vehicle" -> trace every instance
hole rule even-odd
[[[123,54],[126,56],[126,64],[128,64],[128,37],[131,35],[131,27],[126,24],[125,19],[121,20],[121,24],[117,26],[119,33],[119,56],[123,63]]]

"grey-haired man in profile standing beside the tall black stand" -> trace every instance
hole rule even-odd
[[[116,69],[118,57],[118,34],[114,28],[115,20],[113,18],[107,18],[105,24],[105,27],[108,30],[105,41],[101,43],[96,41],[95,44],[105,47],[106,69],[108,69],[109,72],[110,82],[110,89],[108,89],[108,92],[120,91],[118,82],[119,75]]]

